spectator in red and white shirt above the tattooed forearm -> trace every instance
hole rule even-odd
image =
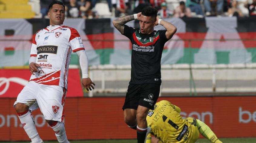
[[[132,14],[128,0],[112,0],[112,5],[115,8],[115,17]]]

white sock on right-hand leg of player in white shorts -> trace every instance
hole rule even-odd
[[[60,143],[69,143],[63,122],[58,122],[51,128],[54,130],[55,135]]]

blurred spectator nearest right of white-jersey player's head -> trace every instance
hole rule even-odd
[[[68,17],[72,17],[72,18],[81,17],[79,9],[80,7],[77,4],[76,0],[69,0],[69,4],[66,6]]]

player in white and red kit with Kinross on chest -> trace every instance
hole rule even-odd
[[[68,65],[71,51],[79,56],[82,85],[95,85],[88,77],[88,58],[81,37],[74,28],[64,26],[65,6],[54,1],[49,5],[50,26],[33,36],[29,70],[32,76],[14,103],[15,110],[32,143],[42,143],[31,112],[38,107],[60,143],[69,143],[63,119],[68,88]]]

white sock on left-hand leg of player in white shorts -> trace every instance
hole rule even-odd
[[[38,135],[38,132],[35,128],[35,120],[30,111],[24,113],[18,113],[20,122],[22,123],[23,129],[27,133],[28,137],[32,142],[40,142],[41,138]]]

